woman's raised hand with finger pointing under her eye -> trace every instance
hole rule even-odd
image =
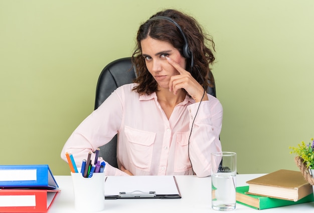
[[[190,72],[183,69],[178,63],[176,63],[171,58],[167,57],[169,64],[171,64],[180,75],[172,76],[169,82],[169,91],[173,91],[177,94],[180,89],[185,89],[189,95],[195,100],[195,102],[200,102],[204,95],[204,88],[199,84],[191,75]],[[204,95],[202,101],[208,100],[207,95]]]

